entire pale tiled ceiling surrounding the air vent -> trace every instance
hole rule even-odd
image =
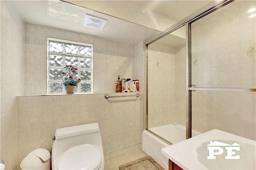
[[[129,44],[136,44],[158,34],[159,31],[172,26],[188,13],[206,4],[206,1],[199,3],[198,1],[180,2],[177,0],[72,0],[68,2],[72,4],[60,0],[14,0],[10,3],[26,23],[80,32]],[[192,5],[192,2],[195,4]],[[188,4],[193,7],[191,10],[188,10]],[[183,9],[182,5],[184,5]],[[86,8],[81,6],[86,6]],[[175,13],[166,12],[174,6],[176,6]],[[108,22],[103,30],[85,27],[83,26],[85,14],[104,18]]]

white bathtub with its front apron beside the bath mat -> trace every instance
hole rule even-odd
[[[150,128],[149,130],[168,140],[172,144],[186,140],[186,127],[182,125],[169,124]],[[198,134],[201,133],[196,130],[192,130],[192,136],[196,136]],[[156,160],[156,162],[158,162],[158,164],[160,164],[165,170],[168,170],[168,158],[162,154],[162,148],[166,146],[169,146],[169,144],[157,138],[147,130],[143,130],[142,150]]]

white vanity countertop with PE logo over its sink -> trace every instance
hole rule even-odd
[[[210,141],[213,143],[210,144]],[[237,146],[237,144],[241,146]],[[232,156],[240,155],[240,159],[225,159],[228,150],[225,149],[224,145],[239,147],[240,151],[232,150]],[[217,146],[219,149],[221,147],[223,153],[214,155],[216,159],[207,159],[212,146]],[[218,150],[214,150],[214,152],[218,152]],[[184,170],[256,169],[256,141],[217,129],[167,146],[162,149],[162,153]]]

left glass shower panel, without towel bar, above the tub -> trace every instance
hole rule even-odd
[[[148,45],[148,129],[170,143],[186,139],[185,27]]]

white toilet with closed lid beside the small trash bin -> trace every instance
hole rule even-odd
[[[56,129],[52,170],[104,170],[98,123]]]

